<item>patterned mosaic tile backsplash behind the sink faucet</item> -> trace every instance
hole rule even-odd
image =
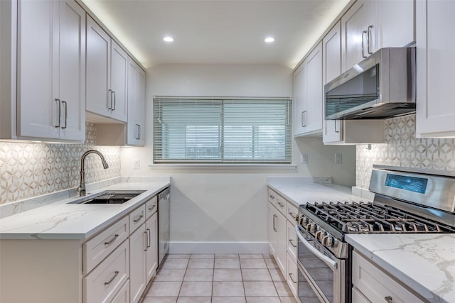
[[[0,142],[0,204],[79,186],[80,158],[90,149],[100,150],[109,168],[88,155],[85,182],[119,177],[120,148],[96,146],[95,125],[86,123],[85,129],[83,144]]]

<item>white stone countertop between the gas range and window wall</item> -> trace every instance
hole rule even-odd
[[[350,187],[331,183],[330,177],[269,177],[267,183],[295,206],[315,202],[368,202],[353,195]]]

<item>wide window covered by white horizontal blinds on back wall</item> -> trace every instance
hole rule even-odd
[[[291,163],[291,99],[154,99],[154,162]]]

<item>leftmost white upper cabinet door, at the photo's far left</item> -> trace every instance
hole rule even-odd
[[[59,138],[58,3],[18,2],[17,79],[17,135]]]

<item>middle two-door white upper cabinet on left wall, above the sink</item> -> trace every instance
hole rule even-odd
[[[127,121],[127,67],[127,53],[88,17],[87,111]]]

